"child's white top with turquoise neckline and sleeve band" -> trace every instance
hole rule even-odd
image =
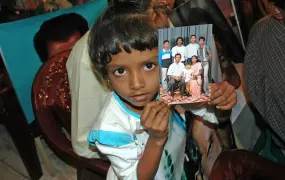
[[[136,130],[143,130],[140,115],[129,110],[116,93],[110,93],[88,137],[90,144],[96,146],[111,162],[107,180],[137,179],[138,163],[149,135],[145,131],[139,133]],[[185,120],[183,116],[172,114],[168,140],[155,180],[182,179],[185,145]],[[174,169],[173,173],[171,169]],[[167,178],[167,175],[170,176]]]

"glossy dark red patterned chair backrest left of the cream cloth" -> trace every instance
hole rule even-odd
[[[51,108],[55,119],[70,132],[71,96],[66,70],[66,61],[71,50],[52,56],[38,70],[33,87],[32,103],[35,114]]]

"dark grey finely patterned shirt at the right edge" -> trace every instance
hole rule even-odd
[[[285,25],[265,17],[251,29],[245,56],[249,96],[285,148]]]

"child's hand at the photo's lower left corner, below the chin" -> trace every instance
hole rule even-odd
[[[168,121],[170,108],[163,101],[148,103],[141,115],[141,124],[147,130],[150,138],[164,143],[168,137]]]

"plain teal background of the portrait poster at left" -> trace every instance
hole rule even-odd
[[[33,38],[41,24],[62,14],[77,13],[83,16],[91,27],[107,5],[107,0],[95,0],[72,8],[0,24],[0,51],[28,123],[35,119],[31,106],[31,87],[42,63],[34,49]]]

